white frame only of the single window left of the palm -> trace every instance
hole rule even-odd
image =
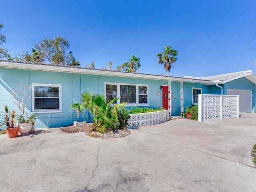
[[[59,109],[40,109],[35,110],[35,86],[42,86],[42,87],[59,87]],[[49,112],[62,112],[62,85],[61,84],[41,84],[41,83],[32,83],[32,92],[31,92],[31,106],[32,112],[38,113],[49,113]]]

